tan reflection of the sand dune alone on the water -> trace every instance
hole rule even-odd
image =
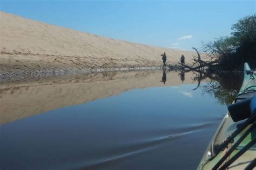
[[[140,70],[36,77],[22,82],[6,82],[0,86],[0,124],[118,95],[130,89],[197,83],[192,79],[192,72],[185,73],[184,82],[179,72],[167,72],[165,84],[160,82],[162,76],[163,70]]]

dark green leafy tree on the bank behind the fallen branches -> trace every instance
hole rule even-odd
[[[210,70],[241,70],[244,62],[256,67],[256,15],[240,19],[231,30],[231,36],[204,45],[203,51],[218,61]]]

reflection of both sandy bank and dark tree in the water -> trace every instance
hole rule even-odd
[[[176,74],[178,73],[178,76]],[[159,73],[161,81],[157,81]],[[167,75],[171,81],[166,84]],[[187,79],[185,80],[185,74]],[[207,84],[200,86],[201,81]],[[178,86],[197,83],[205,93],[218,98],[221,104],[230,104],[242,82],[242,74],[206,75],[181,70],[142,70],[130,72],[103,72],[56,77],[34,77],[23,81],[2,82],[0,86],[0,124],[16,121],[48,110],[77,105],[117,95],[137,88]],[[82,94],[82,95],[81,95]]]

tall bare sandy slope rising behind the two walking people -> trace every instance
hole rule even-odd
[[[105,38],[0,12],[0,74],[35,70],[161,66],[194,52]]]

